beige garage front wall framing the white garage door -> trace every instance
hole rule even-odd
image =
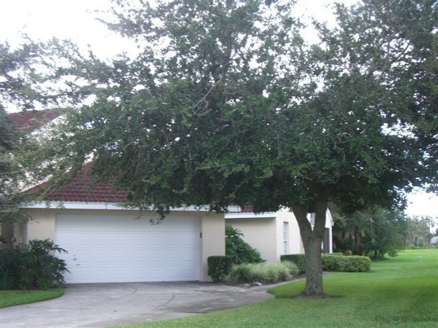
[[[136,210],[66,210],[66,209],[29,209],[31,219],[23,229],[14,232],[15,236],[23,236],[23,241],[28,243],[32,239],[51,238],[56,243],[55,228],[56,215],[59,214],[100,214],[100,215],[139,215]],[[155,215],[156,213],[143,213],[144,215]],[[210,281],[207,275],[207,258],[212,255],[225,254],[225,232],[224,215],[205,212],[172,212],[172,216],[192,216],[200,218],[200,279]]]

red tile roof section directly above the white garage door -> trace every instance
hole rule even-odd
[[[127,192],[123,189],[114,189],[114,180],[95,183],[90,176],[90,165],[84,165],[70,181],[61,189],[49,191],[44,196],[46,201],[61,202],[105,202],[123,203],[127,200]],[[44,182],[31,189],[38,191],[47,183]]]

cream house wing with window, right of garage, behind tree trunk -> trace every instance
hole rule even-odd
[[[313,219],[308,215],[309,221]],[[268,262],[279,262],[283,254],[304,254],[300,229],[294,214],[287,208],[277,212],[253,213],[251,206],[236,213],[226,213],[225,223],[242,231],[244,241],[255,247],[261,258]],[[322,251],[332,253],[333,218],[326,213],[326,226]]]

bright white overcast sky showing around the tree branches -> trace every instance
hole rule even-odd
[[[351,3],[353,0],[342,0]],[[333,22],[327,7],[333,0],[300,0],[297,14],[314,16],[318,20]],[[111,58],[122,52],[136,53],[136,45],[108,31],[96,21],[96,10],[105,12],[109,0],[1,0],[0,40],[8,40],[12,46],[21,42],[21,34],[36,40],[53,36],[70,38],[84,48],[90,45],[93,52],[102,58]],[[102,16],[102,14],[101,14]],[[311,38],[307,31],[307,38]],[[438,197],[424,191],[408,196],[408,215],[438,217]]]

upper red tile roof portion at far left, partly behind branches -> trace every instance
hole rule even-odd
[[[19,111],[18,113],[8,113],[8,118],[15,123],[18,130],[29,133],[37,128],[40,128],[51,120],[54,120],[63,113],[64,111],[60,109]]]

